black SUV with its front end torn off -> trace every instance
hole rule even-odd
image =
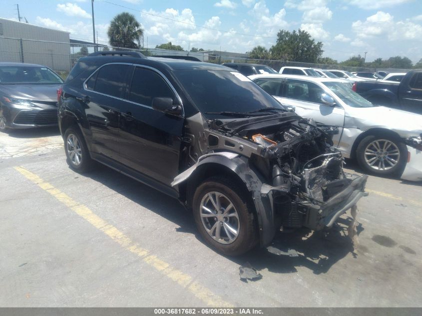
[[[280,227],[329,228],[364,196],[333,128],[287,111],[231,68],[103,52],[58,91],[69,166],[93,160],[179,199],[203,238],[239,255]]]

